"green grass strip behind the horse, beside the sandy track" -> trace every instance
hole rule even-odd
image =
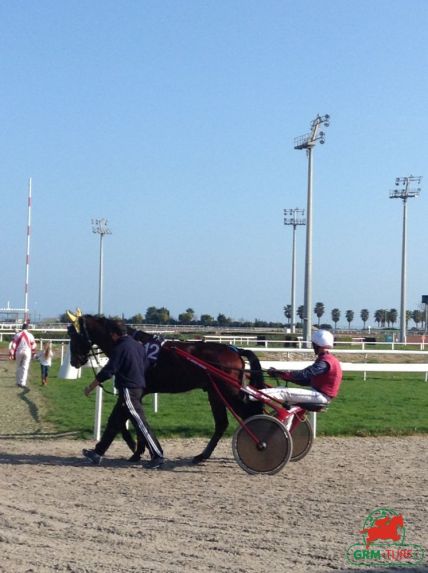
[[[34,384],[45,396],[45,419],[57,432],[74,432],[77,437],[93,434],[95,393],[87,398],[83,388],[93,378],[84,368],[79,380],[56,378],[59,364],[51,369],[47,387]],[[39,366],[33,364],[33,380],[39,379]],[[106,384],[108,390],[111,383]],[[103,423],[115,396],[104,394]],[[213,418],[206,393],[201,390],[182,394],[160,394],[159,411],[153,411],[153,396],[144,399],[147,417],[162,437],[210,436]],[[340,395],[327,412],[318,415],[317,433],[326,436],[379,436],[428,433],[428,383],[422,375],[374,374],[367,381],[362,374],[347,374]],[[236,428],[232,416],[227,435]]]

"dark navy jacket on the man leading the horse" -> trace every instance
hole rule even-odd
[[[96,379],[104,382],[115,376],[115,386],[121,388],[145,388],[147,355],[144,346],[131,338],[122,336],[114,345],[107,364],[98,372]]]

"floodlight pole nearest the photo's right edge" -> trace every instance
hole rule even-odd
[[[418,197],[420,188],[410,189],[412,183],[420,185],[422,177],[397,177],[395,185],[401,187],[389,193],[390,199],[402,199],[403,201],[403,235],[401,245],[401,301],[400,301],[400,342],[407,341],[407,317],[406,317],[406,284],[407,284],[407,199]]]

